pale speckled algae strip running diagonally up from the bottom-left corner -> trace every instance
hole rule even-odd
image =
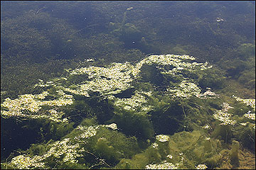
[[[81,144],[85,144],[90,137],[97,134],[100,128],[110,128],[117,130],[117,124],[110,125],[95,125],[95,126],[78,126],[75,131],[78,135],[63,140],[57,140],[48,145],[48,149],[42,155],[21,154],[11,159],[10,166],[16,169],[48,169],[46,164],[48,159],[55,159],[58,164],[76,164],[79,157],[84,157],[87,154]]]

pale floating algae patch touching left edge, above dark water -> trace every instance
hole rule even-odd
[[[6,98],[1,103],[1,108],[4,108],[4,110],[1,110],[1,115],[5,118],[49,118],[55,122],[68,121],[67,118],[62,119],[62,115],[64,114],[62,111],[58,112],[54,109],[43,111],[41,106],[61,107],[71,105],[73,103],[73,96],[64,94],[58,99],[43,101],[48,94],[48,91],[43,91],[43,93],[36,95],[24,94],[14,100]]]

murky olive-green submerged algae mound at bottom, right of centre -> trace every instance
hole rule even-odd
[[[160,141],[157,140],[159,141],[158,145],[153,143],[144,152],[136,154],[132,159],[123,159],[117,164],[117,168],[195,169],[198,164],[205,163],[207,166],[216,166],[218,164],[217,162],[220,159],[218,151],[221,150],[220,142],[206,137],[199,131],[178,132],[171,137],[166,135],[156,136],[156,138],[159,137]],[[153,160],[150,159],[151,154],[149,152],[151,150],[154,150],[155,154],[155,159]],[[156,159],[157,154],[159,154],[157,156],[158,159]],[[144,163],[139,164],[137,162],[139,159],[143,160]],[[202,168],[207,167],[206,165],[202,166]]]

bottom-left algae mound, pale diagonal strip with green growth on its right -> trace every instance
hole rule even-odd
[[[107,133],[111,133],[111,131],[105,131],[107,129],[104,128],[117,130],[117,125],[114,123],[110,125],[93,125],[89,127],[79,125],[77,128],[75,128],[75,130],[73,130],[73,132],[70,133],[70,135],[73,137],[69,135],[71,138],[65,137],[63,140],[58,140],[55,142],[50,140],[46,145],[41,145],[41,147],[44,149],[40,149],[41,152],[38,152],[37,154],[35,152],[36,147],[39,147],[40,145],[34,145],[31,147],[31,151],[33,151],[31,154],[23,154],[14,157],[11,159],[9,164],[6,164],[6,166],[17,169],[48,169],[53,167],[60,168],[63,167],[63,164],[65,164],[65,166],[71,167],[75,164],[78,164],[78,162],[82,162],[82,159],[80,158],[86,157],[85,155],[88,154],[94,156],[95,154],[99,154],[101,157],[105,157],[105,159],[107,159],[106,162],[109,162],[110,159],[113,159],[112,156],[116,157],[114,159],[118,159],[118,157],[126,157],[124,154],[129,154],[129,152],[132,151],[127,150],[129,149],[129,145],[131,145],[129,142],[131,142],[133,147],[135,147],[132,140],[126,139],[126,143],[118,143],[121,142],[119,140],[121,140],[121,138],[124,136],[121,134],[112,134],[114,135],[114,138],[111,135],[106,136]],[[93,137],[96,138],[92,139]],[[108,142],[109,140],[111,142]],[[114,140],[117,141],[113,142]],[[111,146],[108,146],[108,143],[111,143]],[[118,147],[117,144],[119,145]],[[91,145],[91,147],[88,145]],[[95,154],[91,153],[93,148],[95,148]],[[107,163],[103,159],[102,162],[104,162],[102,164],[107,166]],[[84,164],[83,167],[86,168],[87,166]]]

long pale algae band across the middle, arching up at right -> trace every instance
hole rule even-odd
[[[143,78],[143,74],[140,74],[140,72],[142,72],[141,69],[144,65],[155,67],[158,72],[166,75],[166,77],[175,76],[183,80],[187,79],[187,72],[198,74],[198,72],[212,67],[209,66],[208,62],[191,63],[190,60],[196,60],[196,58],[188,55],[150,55],[136,64],[128,62],[112,63],[108,67],[90,66],[66,70],[68,72],[67,77],[54,79],[46,82],[46,84],[40,81],[36,86],[54,87],[57,91],[63,91],[63,93],[85,97],[93,96],[97,92],[101,96],[107,97],[133,88],[134,81]],[[81,77],[82,75],[84,77]],[[70,81],[78,84],[72,84]],[[179,86],[181,90],[186,91],[184,93],[188,96],[189,93],[193,95],[200,93],[196,84],[188,80],[186,83],[183,81]],[[194,89],[194,91],[189,91],[189,88]],[[175,91],[175,88],[171,90]]]

